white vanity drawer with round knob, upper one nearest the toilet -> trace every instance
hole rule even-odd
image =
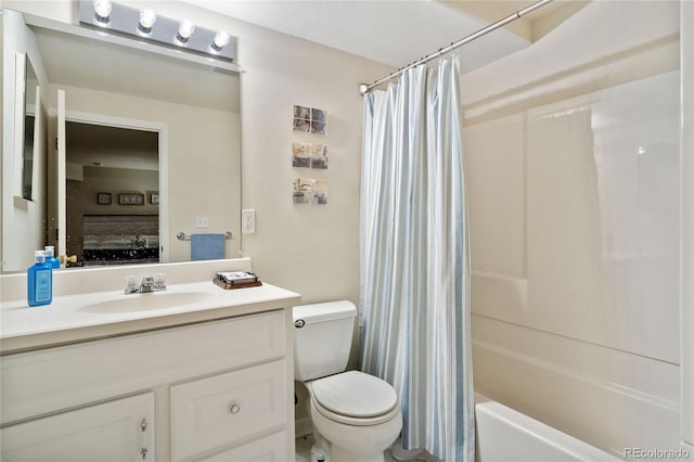
[[[274,361],[171,387],[171,457],[189,459],[287,421],[286,363]]]

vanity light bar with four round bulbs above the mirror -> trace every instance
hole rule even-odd
[[[110,0],[79,0],[79,24],[106,34],[236,62],[236,38],[226,30],[196,27],[189,20],[159,16],[150,9],[138,10]]]

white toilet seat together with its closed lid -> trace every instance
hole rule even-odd
[[[309,390],[318,412],[348,425],[377,425],[399,412],[390,384],[359,371],[319,378],[310,383]]]

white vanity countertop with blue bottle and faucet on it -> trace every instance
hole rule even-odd
[[[172,284],[166,291],[123,291],[60,295],[51,305],[26,300],[0,308],[0,352],[164,329],[297,305],[296,294],[274,285],[223,290],[211,281]]]

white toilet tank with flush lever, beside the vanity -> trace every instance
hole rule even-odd
[[[294,380],[306,382],[347,368],[357,308],[348,300],[294,307]]]

